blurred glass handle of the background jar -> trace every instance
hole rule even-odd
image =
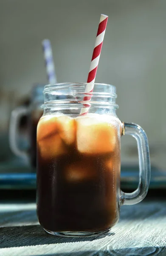
[[[19,124],[22,116],[28,115],[29,111],[26,107],[18,107],[11,112],[9,123],[9,145],[11,151],[18,157],[22,157],[28,163],[28,153],[20,150],[17,143],[17,135],[19,134]]]

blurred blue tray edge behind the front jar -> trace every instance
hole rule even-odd
[[[121,166],[121,189],[135,189],[138,186],[138,166]],[[151,167],[152,189],[166,189],[166,172]],[[0,189],[36,189],[36,173],[27,166],[0,166]]]

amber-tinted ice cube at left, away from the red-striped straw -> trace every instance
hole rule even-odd
[[[40,154],[45,159],[68,153],[75,140],[75,120],[68,116],[43,116],[37,127]]]

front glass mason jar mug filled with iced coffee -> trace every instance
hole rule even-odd
[[[148,140],[143,129],[121,122],[116,88],[86,83],[46,85],[37,126],[37,214],[48,233],[97,236],[119,219],[120,206],[145,198],[150,181]],[[84,96],[91,96],[89,102]],[[64,99],[57,100],[57,96]],[[80,115],[85,104],[88,112]],[[121,136],[138,144],[140,180],[132,193],[120,189]]]

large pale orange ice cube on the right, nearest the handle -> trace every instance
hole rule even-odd
[[[113,152],[118,142],[118,131],[113,118],[104,115],[81,116],[77,122],[77,147],[81,153]]]

